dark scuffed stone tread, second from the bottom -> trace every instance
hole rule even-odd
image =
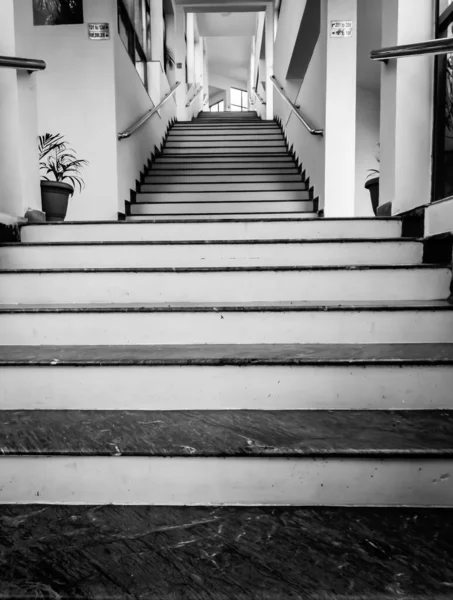
[[[0,440],[3,455],[453,457],[453,410],[5,410]]]

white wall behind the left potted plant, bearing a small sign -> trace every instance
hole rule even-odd
[[[20,0],[32,10],[32,0]],[[84,1],[82,25],[33,27],[35,53],[47,63],[37,80],[39,132],[61,133],[79,158],[86,187],[67,220],[117,218],[115,68],[116,2]],[[108,22],[109,41],[88,38],[87,23]]]

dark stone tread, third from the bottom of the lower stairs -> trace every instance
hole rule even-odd
[[[0,365],[453,364],[452,343],[0,346]]]

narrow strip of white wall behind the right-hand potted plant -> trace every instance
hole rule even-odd
[[[372,217],[370,192],[365,189],[368,169],[379,169],[376,161],[379,143],[379,93],[357,87],[355,162],[355,216]]]

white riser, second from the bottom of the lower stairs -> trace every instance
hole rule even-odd
[[[0,380],[0,410],[453,407],[453,369],[439,365],[3,366]]]

